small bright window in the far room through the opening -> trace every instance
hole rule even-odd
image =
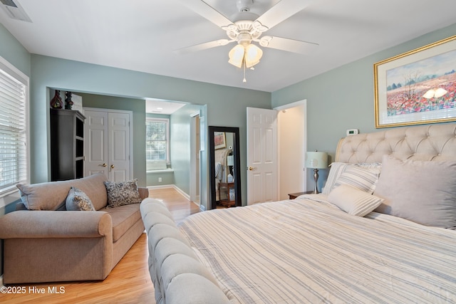
[[[145,157],[147,162],[170,159],[170,120],[147,118],[145,131]]]

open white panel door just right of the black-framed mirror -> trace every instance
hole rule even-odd
[[[278,199],[277,111],[247,108],[247,204]]]

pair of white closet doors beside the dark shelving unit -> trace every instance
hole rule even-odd
[[[84,110],[86,126],[86,176],[103,173],[112,182],[131,179],[129,112]]]

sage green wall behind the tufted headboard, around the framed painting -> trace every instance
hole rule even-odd
[[[307,150],[328,152],[331,162],[337,142],[346,136],[347,129],[375,131],[373,64],[455,34],[456,23],[277,90],[271,95],[272,108],[306,99]],[[319,173],[321,187],[328,170]],[[307,181],[307,189],[313,189],[313,172],[308,172]]]

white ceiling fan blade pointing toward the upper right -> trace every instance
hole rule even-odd
[[[266,11],[258,17],[256,21],[259,21],[261,25],[267,28],[273,28],[277,24],[281,23],[286,19],[289,19],[294,14],[302,11],[306,6],[309,6],[315,0],[281,0],[276,5],[272,6],[271,9]]]

